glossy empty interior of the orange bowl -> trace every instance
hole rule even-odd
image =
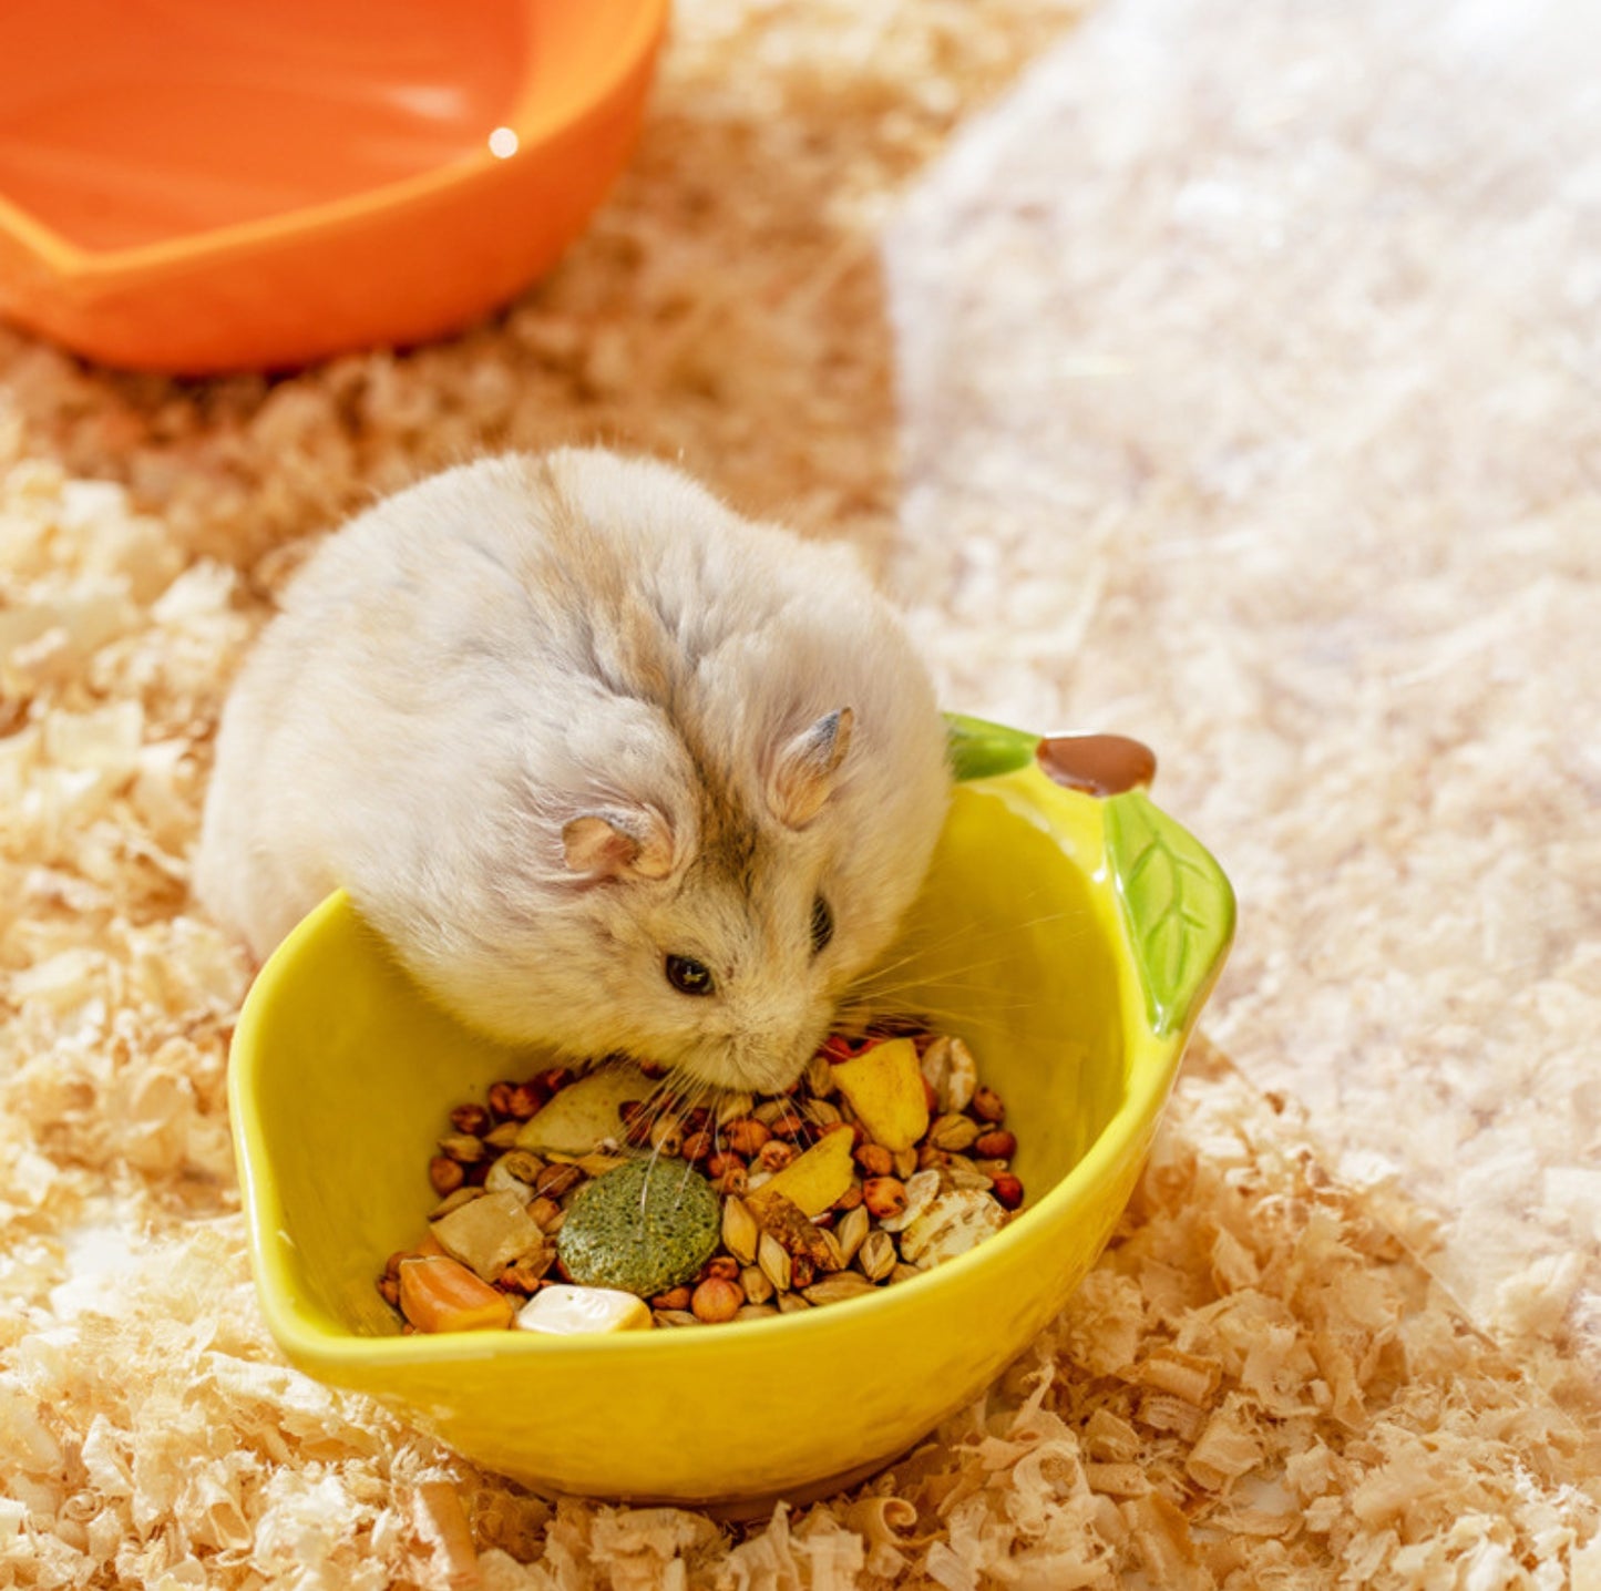
[[[488,162],[584,104],[637,10],[8,0],[0,195],[104,253]]]

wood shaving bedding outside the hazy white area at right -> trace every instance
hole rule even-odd
[[[1206,1055],[1029,1354],[858,1493],[760,1527],[528,1497],[287,1369],[261,1322],[224,1101],[248,967],[186,880],[290,544],[459,453],[589,435],[882,544],[861,229],[1063,19],[685,6],[568,266],[413,355],[184,386],[0,333],[0,1585],[1601,1580],[1579,1434]]]

